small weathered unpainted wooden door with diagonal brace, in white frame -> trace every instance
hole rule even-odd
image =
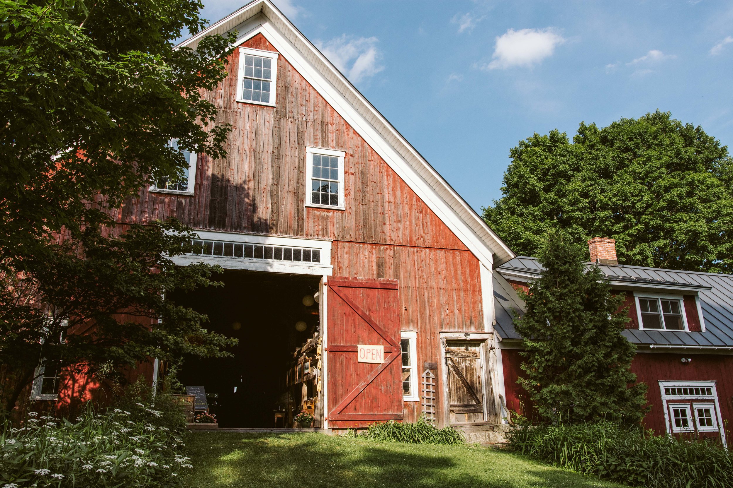
[[[451,424],[484,421],[482,342],[446,341]]]

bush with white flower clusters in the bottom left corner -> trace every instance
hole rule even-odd
[[[163,413],[139,402],[130,410],[94,413],[75,422],[29,413],[26,427],[4,424],[0,484],[22,487],[174,487],[188,469],[178,432]]]

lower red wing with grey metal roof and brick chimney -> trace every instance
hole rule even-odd
[[[733,419],[733,275],[619,265],[614,239],[588,244],[594,265],[626,295],[625,336],[637,347],[631,369],[649,386],[646,427],[658,434],[721,436],[725,442]],[[519,257],[497,271],[501,388],[510,410],[529,413],[516,383],[521,338],[509,313],[523,307],[513,290],[526,290],[542,267],[534,258]]]

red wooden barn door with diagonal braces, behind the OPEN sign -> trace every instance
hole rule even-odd
[[[402,419],[399,291],[394,279],[328,279],[328,427]],[[358,345],[383,346],[359,362]]]

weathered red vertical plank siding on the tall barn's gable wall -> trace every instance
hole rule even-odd
[[[262,34],[244,46],[276,51]],[[399,280],[419,375],[424,361],[441,364],[439,331],[483,331],[479,261],[460,239],[287,59],[278,58],[274,108],[235,102],[238,64],[235,51],[229,77],[205,93],[218,123],[232,124],[228,157],[198,158],[193,196],[142,189],[119,220],[174,216],[202,230],[334,240],[335,275]],[[344,211],[305,206],[306,146],[345,151]],[[405,421],[420,412],[420,402],[405,402]]]

